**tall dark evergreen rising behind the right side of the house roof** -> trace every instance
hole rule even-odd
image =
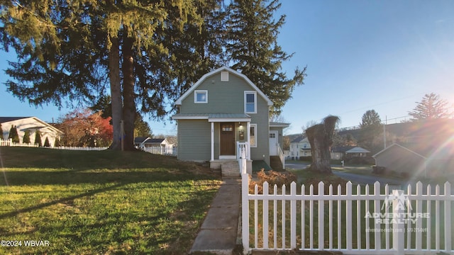
[[[233,0],[227,18],[226,52],[233,62],[232,68],[240,70],[270,98],[272,114],[280,113],[292,97],[294,86],[303,84],[306,76],[306,67],[295,69],[292,78],[282,72],[282,62],[292,54],[288,55],[277,44],[285,16],[275,21],[273,14],[280,6],[277,0]]]

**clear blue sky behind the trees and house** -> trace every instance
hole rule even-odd
[[[330,114],[341,118],[341,128],[358,125],[370,109],[388,123],[400,122],[431,92],[454,103],[454,1],[281,2],[277,15],[287,18],[278,42],[294,52],[282,69],[292,75],[295,67],[307,66],[308,74],[282,109],[292,123],[287,134]],[[0,69],[6,69],[7,59],[14,55],[2,52]],[[2,72],[0,81],[5,80]],[[52,121],[69,111],[28,106],[3,84],[0,98],[4,116]],[[155,134],[176,134],[175,123],[150,125]]]

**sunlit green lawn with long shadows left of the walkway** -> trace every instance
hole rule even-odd
[[[0,147],[0,254],[185,254],[220,181],[145,152]],[[22,243],[24,245],[24,243]]]

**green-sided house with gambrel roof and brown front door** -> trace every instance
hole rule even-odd
[[[270,156],[282,152],[282,128],[288,124],[270,124],[272,101],[231,68],[205,74],[176,105],[172,119],[177,120],[180,160],[210,162],[212,169],[221,169],[236,162],[244,147],[252,172],[253,161],[269,165]]]

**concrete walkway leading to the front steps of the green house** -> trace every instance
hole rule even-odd
[[[233,254],[240,216],[241,179],[223,179],[190,253]]]

